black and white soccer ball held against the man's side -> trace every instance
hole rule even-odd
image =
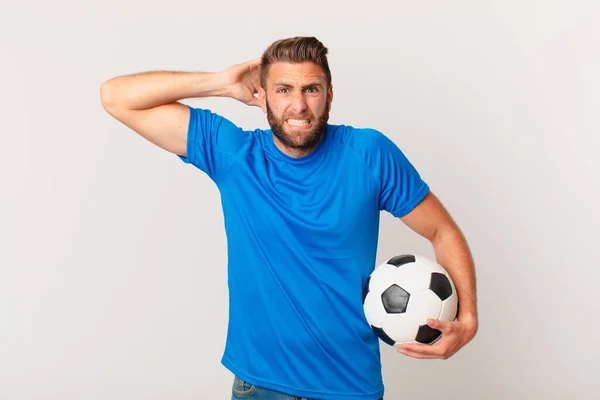
[[[363,289],[363,308],[375,334],[390,346],[433,344],[441,335],[428,318],[453,321],[458,296],[446,270],[426,257],[403,254],[377,266]]]

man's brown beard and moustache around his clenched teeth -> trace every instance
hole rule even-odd
[[[293,119],[310,119],[311,121],[314,121],[314,125],[310,130],[292,129],[286,131],[284,128],[286,119],[288,118],[284,117],[278,119],[273,114],[271,107],[269,107],[269,102],[267,101],[267,120],[269,121],[269,125],[271,126],[271,130],[275,137],[277,137],[284,146],[290,149],[311,150],[317,147],[323,137],[325,129],[327,129],[327,122],[329,121],[329,105],[325,107],[323,114],[321,114],[317,121],[314,121],[314,116],[310,112],[309,114],[293,116]]]

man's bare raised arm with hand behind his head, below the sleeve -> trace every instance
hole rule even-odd
[[[260,59],[222,72],[152,71],[123,75],[104,82],[104,109],[142,137],[177,155],[186,156],[189,108],[179,100],[231,97],[260,106]]]

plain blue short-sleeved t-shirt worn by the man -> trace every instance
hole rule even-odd
[[[222,363],[250,384],[317,399],[383,396],[379,339],[363,311],[380,211],[411,211],[428,185],[374,129],[328,125],[293,158],[271,130],[190,107],[187,157],[217,185],[228,251]]]

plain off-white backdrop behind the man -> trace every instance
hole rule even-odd
[[[476,261],[478,335],[446,361],[382,344],[386,400],[600,398],[597,2],[0,4],[0,399],[229,398],[218,190],[99,89],[297,35],[330,50],[330,121],[392,138]],[[382,213],[378,261],[407,252],[433,255]]]

